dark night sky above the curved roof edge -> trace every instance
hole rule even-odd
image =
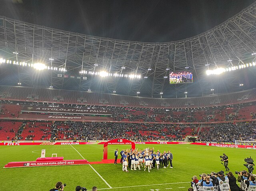
[[[255,0],[0,0],[0,15],[88,35],[180,40],[205,32]]]

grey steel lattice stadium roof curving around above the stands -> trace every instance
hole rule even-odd
[[[255,87],[255,67],[207,76],[206,70],[256,60],[256,2],[212,30],[165,43],[126,41],[37,26],[0,16],[0,85],[53,87],[146,97],[184,97]],[[58,70],[35,71],[22,63]],[[65,68],[66,71],[60,71]],[[169,84],[170,71],[192,71],[193,84]],[[81,73],[86,71],[86,73]],[[93,73],[106,71],[113,76]],[[90,74],[89,74],[90,73]],[[140,78],[115,74],[140,75]],[[243,89],[239,84],[248,83]]]

